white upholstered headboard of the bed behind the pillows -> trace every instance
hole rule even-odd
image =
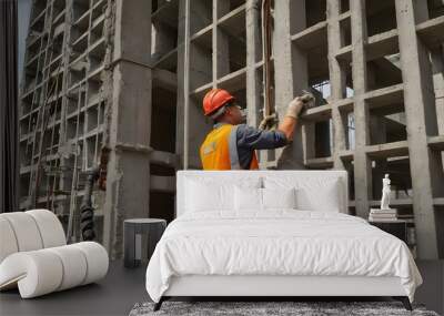
[[[210,177],[212,181],[226,183],[230,181],[235,183],[242,177],[296,177],[297,181],[304,179],[319,179],[320,181],[327,179],[337,179],[340,183],[340,198],[341,198],[341,212],[349,213],[349,180],[347,172],[343,170],[335,171],[321,171],[321,170],[259,170],[259,171],[202,171],[202,170],[181,170],[176,173],[176,205],[175,215],[176,217],[184,213],[185,202],[185,187],[189,179],[202,179]]]

